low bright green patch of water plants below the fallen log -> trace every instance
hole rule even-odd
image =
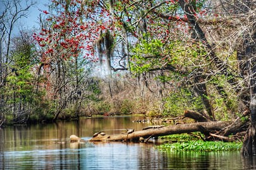
[[[240,150],[241,142],[204,142],[202,140],[177,142],[173,144],[162,144],[157,146],[161,150],[173,151],[195,151],[195,152],[212,152],[212,151],[231,151]]]

